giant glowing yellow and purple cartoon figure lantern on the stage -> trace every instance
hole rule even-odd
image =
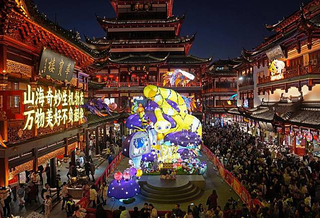
[[[149,99],[147,105],[132,102],[132,115],[126,120],[126,127],[137,132],[124,140],[122,154],[133,160],[135,168],[141,167],[141,160],[176,162],[181,159],[179,150],[186,150],[190,158],[196,158],[202,142],[202,126],[196,117],[188,114],[195,108],[191,98],[155,85],[146,86],[144,95]],[[137,170],[137,177],[140,171]]]

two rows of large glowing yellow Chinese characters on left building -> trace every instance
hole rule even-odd
[[[51,87],[45,92],[42,86],[31,90],[28,85],[27,91],[23,93],[24,105],[28,106],[27,111],[23,112],[25,116],[24,128],[31,130],[33,125],[37,129],[40,127],[53,128],[55,125],[82,121],[84,118],[84,103],[82,91],[58,90],[54,91]]]

